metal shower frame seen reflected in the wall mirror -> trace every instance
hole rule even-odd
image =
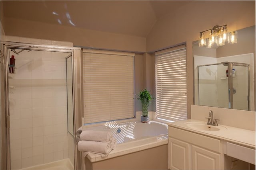
[[[228,64],[228,108],[233,109],[233,72],[232,68],[234,66],[246,66],[248,68],[248,110],[250,111],[250,64],[246,63],[235,63],[235,62],[221,62],[221,63],[214,63],[214,64],[203,64],[200,66],[213,66],[218,64]],[[198,104],[200,97],[199,97],[199,67],[197,66],[198,70]]]

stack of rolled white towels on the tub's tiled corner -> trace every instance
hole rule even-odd
[[[84,156],[90,152],[106,156],[116,147],[116,139],[109,131],[85,130],[80,134],[80,140],[78,150],[84,152]]]

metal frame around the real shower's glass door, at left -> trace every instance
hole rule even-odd
[[[76,78],[80,77],[80,66],[75,68],[75,63],[79,64],[80,56],[74,57],[75,50],[81,50],[78,47],[62,47],[62,46],[53,46],[53,45],[37,45],[37,44],[27,44],[27,43],[15,43],[15,42],[8,42],[8,41],[1,41],[1,50],[3,52],[3,66],[4,66],[4,80],[5,80],[5,128],[6,128],[6,169],[10,170],[11,168],[11,161],[10,161],[10,111],[9,111],[9,81],[8,81],[8,49],[26,49],[26,50],[37,50],[37,51],[53,51],[53,52],[67,52],[71,53],[72,55],[72,91],[73,91],[73,126],[74,126],[74,134],[76,134],[76,112],[80,113],[81,106],[76,100],[80,101],[80,80],[76,81]],[[2,95],[1,95],[2,98]],[[0,114],[3,114],[2,112]],[[2,120],[1,120],[2,121]],[[77,161],[77,146],[76,146],[76,138],[73,137],[74,141],[74,169],[78,167]],[[4,139],[1,139],[4,140]]]

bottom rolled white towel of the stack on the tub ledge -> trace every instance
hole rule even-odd
[[[82,152],[91,151],[108,154],[111,151],[111,145],[108,142],[79,141],[77,147]]]

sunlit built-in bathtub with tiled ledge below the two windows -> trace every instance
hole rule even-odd
[[[99,154],[93,154],[93,153],[88,154],[85,157],[85,160],[87,160],[87,162],[85,160],[83,161],[83,164],[84,165],[86,164],[85,167],[87,168],[84,167],[83,169],[95,169],[92,167],[92,165],[95,162],[101,161],[102,163],[104,162],[102,160],[106,161],[110,158],[115,158],[115,157],[118,157],[118,162],[120,163],[122,162],[122,159],[119,158],[120,156],[127,157],[128,156],[127,154],[136,154],[136,152],[142,152],[143,150],[147,150],[146,154],[148,155],[149,149],[152,149],[152,148],[154,148],[154,151],[152,150],[152,152],[154,152],[152,153],[154,156],[157,149],[156,147],[160,147],[162,145],[166,145],[165,146],[166,149],[164,150],[167,150],[168,125],[164,123],[159,123],[156,121],[150,121],[148,123],[134,121],[134,122],[116,124],[116,123],[108,122],[108,123],[105,123],[105,125],[101,125],[101,126],[90,127],[89,125],[88,127],[86,126],[83,127],[83,130],[87,130],[87,129],[110,131],[113,134],[113,137],[116,139],[118,144],[116,148],[112,150],[106,157],[102,157]],[[134,158],[134,156],[136,157],[136,155],[133,155],[132,158]],[[166,161],[167,161],[167,155],[166,155]],[[124,162],[120,166],[123,166],[126,162],[127,162],[127,158],[124,159]],[[111,165],[111,164],[112,163],[103,164],[101,166],[98,166],[98,168],[104,169],[106,168],[107,165]],[[115,164],[116,164],[116,161],[115,161]],[[160,162],[160,164],[163,164],[163,163]],[[118,167],[117,165],[115,165],[115,167],[117,169],[118,168],[122,169],[122,167]],[[167,162],[166,162],[166,167],[167,167]],[[114,167],[109,167],[109,168],[113,169]],[[133,169],[132,167],[126,167],[126,168]],[[143,167],[143,168],[146,168],[146,167]],[[152,166],[148,168],[152,168]],[[139,165],[135,166],[134,169],[140,169]]]

